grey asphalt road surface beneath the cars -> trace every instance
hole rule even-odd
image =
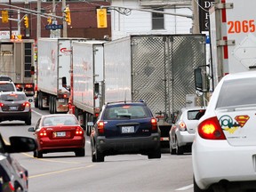
[[[11,135],[32,137],[28,127],[48,111],[33,108],[32,125],[21,121],[2,122],[0,131],[8,141]],[[92,163],[90,139],[86,136],[85,156],[52,153],[37,159],[33,153],[13,154],[28,169],[29,192],[165,192],[193,191],[191,154],[170,155],[163,148],[161,159],[141,155],[107,156],[104,163]]]

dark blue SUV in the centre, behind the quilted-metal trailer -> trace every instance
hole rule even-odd
[[[156,118],[145,102],[107,103],[92,129],[92,162],[122,154],[161,158],[160,134]]]

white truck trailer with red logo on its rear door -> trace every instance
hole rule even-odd
[[[84,38],[39,38],[35,107],[51,114],[68,112],[72,43]],[[62,86],[66,76],[67,87]]]

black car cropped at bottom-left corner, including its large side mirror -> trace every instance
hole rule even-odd
[[[28,170],[11,153],[34,151],[36,141],[28,137],[10,137],[6,145],[0,134],[0,191],[28,191]]]

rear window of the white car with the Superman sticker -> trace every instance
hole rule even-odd
[[[256,78],[236,79],[223,83],[217,108],[256,104]]]

